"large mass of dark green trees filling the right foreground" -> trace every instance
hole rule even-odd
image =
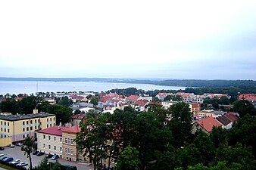
[[[172,119],[166,119],[171,117]],[[114,114],[89,112],[76,136],[78,150],[95,169],[255,169],[256,118],[242,116],[232,129],[214,128],[211,134],[192,134],[192,113],[187,104],[168,110],[150,105],[148,112],[132,107]],[[203,167],[203,168],[198,168]]]

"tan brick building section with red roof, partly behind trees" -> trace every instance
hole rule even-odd
[[[74,139],[76,138],[76,134],[80,132],[80,128],[78,125],[74,125],[70,128],[65,128],[62,130],[62,157],[68,161],[79,161],[83,160],[83,156],[80,155],[78,150],[76,149],[76,142]]]

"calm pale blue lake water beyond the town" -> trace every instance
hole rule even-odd
[[[108,91],[113,88],[137,88],[145,91],[164,89],[179,90],[186,87],[110,83],[110,82],[38,82],[38,91]],[[0,94],[32,94],[36,93],[36,81],[0,81]]]

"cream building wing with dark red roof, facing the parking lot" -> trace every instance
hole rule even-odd
[[[37,131],[37,150],[46,154],[62,156],[62,130],[64,128],[64,126],[55,125]]]

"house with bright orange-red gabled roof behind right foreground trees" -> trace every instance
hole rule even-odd
[[[195,134],[196,131],[204,131],[205,133],[209,134],[213,127],[222,127],[223,125],[220,124],[216,119],[213,117],[208,117],[205,119],[198,120],[194,122],[192,125],[192,133]]]

